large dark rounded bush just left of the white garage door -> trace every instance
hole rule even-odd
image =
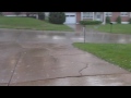
[[[66,22],[64,12],[50,12],[49,22],[52,24],[63,24]]]

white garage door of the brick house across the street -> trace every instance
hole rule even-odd
[[[66,23],[64,24],[75,24],[76,15],[75,13],[66,13]]]

